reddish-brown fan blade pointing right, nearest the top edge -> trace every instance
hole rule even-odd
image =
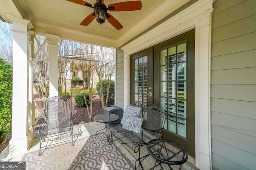
[[[114,10],[110,11],[136,11],[141,10],[142,4],[140,0],[138,1],[127,1],[127,2],[119,2],[115,4],[108,5],[108,8],[114,7]]]

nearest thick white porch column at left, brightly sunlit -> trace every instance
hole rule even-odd
[[[29,20],[8,16],[13,31],[12,139],[9,153],[28,149]]]

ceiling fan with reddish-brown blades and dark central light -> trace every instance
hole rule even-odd
[[[121,25],[116,18],[114,18],[111,14],[109,14],[107,11],[135,11],[135,10],[141,10],[142,4],[140,0],[138,1],[127,1],[127,2],[119,2],[115,4],[110,4],[107,6],[104,4],[104,0],[96,0],[96,3],[94,6],[92,4],[85,2],[83,0],[67,0],[70,2],[74,2],[76,4],[80,4],[83,6],[87,6],[90,8],[93,8],[94,12],[87,16],[80,25],[89,25],[94,18],[96,18],[96,21],[100,24],[105,22],[105,19],[108,20],[108,22],[113,25],[117,30],[122,29],[123,26]]]

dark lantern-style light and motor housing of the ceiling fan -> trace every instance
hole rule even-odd
[[[96,21],[100,24],[105,22],[107,15],[107,7],[105,4],[99,4],[96,2],[93,6]]]

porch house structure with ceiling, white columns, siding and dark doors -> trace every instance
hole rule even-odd
[[[92,11],[65,0],[0,5],[14,32],[10,149],[24,151],[34,137],[35,33],[47,36],[50,97],[58,95],[58,39],[115,48],[117,106],[166,109],[163,138],[201,170],[256,169],[256,0],[141,1],[140,11],[110,12],[124,26],[118,31],[107,21],[80,25]]]

